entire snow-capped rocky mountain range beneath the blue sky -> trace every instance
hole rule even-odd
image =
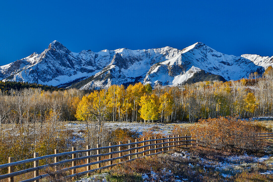
[[[273,56],[227,55],[201,42],[182,50],[167,46],[148,50],[122,48],[74,53],[55,40],[42,53],[34,52],[0,66],[0,79],[53,86],[69,86],[69,82],[76,80],[81,89],[136,81],[152,86],[177,85],[201,70],[221,75],[226,80],[238,80],[248,77],[251,72],[262,73],[268,66],[273,66]]]

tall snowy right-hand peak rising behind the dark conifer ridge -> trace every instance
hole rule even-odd
[[[180,84],[197,71],[191,70],[195,67],[215,75],[221,75],[226,80],[239,80],[248,77],[251,72],[263,72],[264,70],[262,66],[254,64],[251,60],[222,54],[201,42],[197,42],[183,49],[176,57],[154,64],[144,78],[144,83],[152,85],[155,83],[163,85]],[[164,78],[162,79],[162,77]],[[178,79],[179,77],[180,79]]]

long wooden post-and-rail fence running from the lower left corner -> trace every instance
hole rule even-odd
[[[151,156],[151,155],[157,155],[162,152],[167,152],[169,150],[174,149],[176,146],[195,146],[198,144],[198,141],[192,140],[191,136],[168,136],[167,138],[161,138],[157,139],[151,139],[149,137],[148,140],[143,138],[143,141],[138,141],[137,139],[135,140],[134,143],[131,143],[131,140],[128,141],[126,144],[122,144],[122,142],[119,142],[118,145],[112,145],[112,143],[109,143],[109,146],[101,147],[100,144],[97,144],[97,148],[91,148],[90,146],[87,145],[86,150],[78,150],[76,151],[76,147],[72,147],[71,152],[63,152],[59,153],[58,149],[55,149],[55,154],[52,155],[45,155],[45,156],[38,156],[37,152],[34,152],[34,158],[26,159],[26,160],[21,160],[14,162],[13,157],[8,158],[8,163],[7,164],[2,164],[0,165],[0,169],[2,168],[8,168],[8,174],[0,175],[0,180],[2,179],[7,179],[9,182],[14,181],[15,176],[19,176],[22,174],[26,174],[29,172],[34,172],[34,177],[28,180],[23,180],[20,182],[39,182],[39,179],[49,177],[52,174],[45,173],[39,175],[39,171],[41,169],[46,169],[49,167],[53,167],[55,169],[54,175],[61,173],[61,172],[67,172],[70,171],[70,175],[66,175],[64,178],[75,178],[78,176],[82,175],[89,175],[89,173],[94,172],[96,170],[102,170],[106,168],[111,168],[112,166],[119,165],[123,162],[128,162],[132,161],[138,158],[146,157],[146,156]],[[133,146],[133,148],[132,148]],[[118,148],[118,151],[113,151],[114,148]],[[127,149],[123,149],[127,148]],[[102,153],[102,151],[108,151],[107,153]],[[91,152],[97,151],[97,154],[95,155],[90,155]],[[76,154],[79,153],[86,153],[86,155],[83,155],[83,157],[76,157]],[[126,154],[125,154],[126,153]],[[113,157],[113,154],[118,154],[118,157]],[[59,157],[62,156],[67,156],[67,155],[72,155],[71,159],[65,159],[63,161],[59,161]],[[108,157],[107,157],[108,156]],[[104,157],[105,159],[101,160],[101,157]],[[46,165],[39,166],[39,160],[44,160],[44,159],[49,159],[49,158],[54,158],[54,163],[49,163]],[[67,158],[69,158],[67,156]],[[91,158],[96,158],[97,160],[95,162],[91,162]],[[76,165],[76,161],[80,160],[85,160],[85,164],[81,165]],[[122,161],[122,159],[124,159]],[[116,163],[113,163],[116,162]],[[17,165],[22,165],[26,163],[32,163],[33,162],[33,168],[29,169],[24,169],[21,171],[14,171],[14,166]],[[103,163],[108,163],[106,166],[102,166]],[[58,166],[64,165],[69,163],[70,165],[72,164],[71,167],[63,168],[63,169],[58,169]],[[97,165],[95,169],[91,169],[92,165]],[[78,168],[83,168],[86,167],[86,171],[76,173],[76,169]]]

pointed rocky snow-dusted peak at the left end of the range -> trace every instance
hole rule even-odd
[[[86,54],[88,59],[83,60],[81,52],[76,57],[61,43],[54,41],[41,54],[33,53],[9,66],[2,66],[0,79],[56,86],[82,76],[91,76],[95,71],[92,59],[95,54],[89,52]]]

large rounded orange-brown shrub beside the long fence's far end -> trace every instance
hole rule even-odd
[[[191,134],[200,145],[229,151],[256,149],[261,144],[256,140],[260,132],[266,132],[265,127],[231,116],[201,119],[191,127]]]

